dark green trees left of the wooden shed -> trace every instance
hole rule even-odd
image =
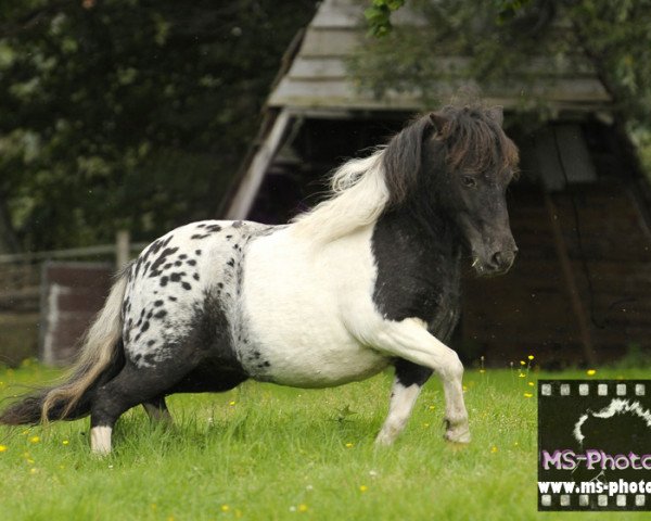
[[[314,2],[3,2],[0,201],[25,249],[215,216]]]

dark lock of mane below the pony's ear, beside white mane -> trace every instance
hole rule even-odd
[[[400,204],[416,186],[422,167],[423,141],[432,134],[430,115],[422,116],[388,142],[382,164],[388,190],[388,205]]]

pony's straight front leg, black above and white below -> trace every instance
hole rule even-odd
[[[432,369],[404,359],[398,359],[395,366],[388,415],[375,439],[378,445],[391,445],[403,432],[422,386],[432,376]]]

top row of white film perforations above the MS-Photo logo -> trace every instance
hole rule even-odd
[[[612,396],[618,398],[651,396],[651,380],[623,382],[621,380],[591,381],[559,380],[540,382],[540,396]]]

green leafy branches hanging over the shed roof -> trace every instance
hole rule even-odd
[[[499,88],[513,78],[539,81],[532,56],[569,69],[587,59],[620,119],[634,126],[651,120],[650,0],[413,0],[410,9],[424,26],[392,29],[391,13],[401,3],[374,0],[367,10],[370,33],[384,35],[369,41],[354,63],[367,88],[416,88],[436,98],[441,93],[432,87],[441,78]],[[450,55],[468,61],[455,67],[442,60]]]

